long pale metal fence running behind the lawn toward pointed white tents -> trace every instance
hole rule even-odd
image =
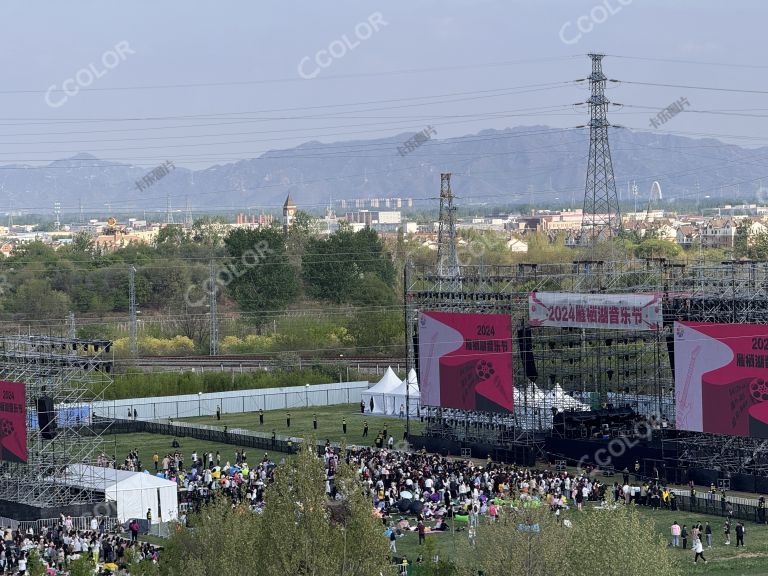
[[[294,388],[267,388],[243,390],[239,394],[222,392],[115,400],[97,402],[93,405],[94,415],[101,418],[130,418],[137,420],[164,420],[167,418],[190,418],[194,416],[215,416],[258,412],[259,410],[295,410],[310,406],[331,406],[334,404],[358,404],[368,382],[344,382],[341,384],[318,384]],[[135,415],[134,415],[135,411]]]

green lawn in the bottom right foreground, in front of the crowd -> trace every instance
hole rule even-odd
[[[665,510],[656,510],[655,512],[648,508],[641,508],[642,514],[653,522],[657,531],[665,539],[669,540],[670,526],[672,522],[677,521],[681,526],[683,524],[690,527],[694,522],[700,521],[702,524],[709,522],[712,526],[712,549],[704,549],[704,556],[708,560],[706,567],[701,561],[698,565],[693,564],[693,552],[691,550],[678,549],[674,555],[678,558],[679,566],[683,574],[738,574],[741,576],[757,576],[768,574],[768,526],[758,525],[754,522],[745,522],[746,535],[744,537],[745,547],[736,548],[736,536],[731,530],[731,544],[725,545],[723,536],[723,518],[718,516],[707,516],[704,514],[691,514],[690,512],[668,512]],[[589,512],[586,512],[589,513]],[[578,522],[579,512],[573,510],[565,513],[564,518],[569,518],[572,522]],[[449,523],[450,524],[450,523]],[[735,523],[733,526],[735,527]],[[455,554],[455,543],[467,538],[466,525],[461,524],[461,530],[457,532],[447,532],[444,534],[427,535],[427,539],[433,539],[435,553],[442,557],[451,559]],[[382,533],[383,534],[383,533]],[[383,538],[383,535],[382,535]],[[688,546],[691,546],[689,537]],[[419,554],[427,555],[424,552],[424,546],[419,546],[416,533],[409,532],[397,540],[397,556],[403,555],[413,562]]]

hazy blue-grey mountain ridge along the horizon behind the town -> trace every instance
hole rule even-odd
[[[403,149],[399,152],[398,147],[411,136],[307,142],[203,170],[178,167],[143,191],[135,182],[151,169],[86,153],[46,167],[4,165],[0,211],[52,212],[54,202],[60,202],[64,212],[76,211],[80,202],[88,213],[162,211],[170,195],[175,210],[183,210],[188,200],[195,211],[277,212],[288,193],[300,209],[320,209],[331,199],[393,197],[413,198],[416,207],[429,207],[427,202],[433,202],[429,199],[439,193],[440,172],[454,174],[452,186],[459,204],[508,205],[558,198],[564,206],[581,205],[589,145],[586,129],[520,126],[443,140],[434,137],[401,155]],[[761,178],[768,185],[762,166],[768,159],[765,147],[748,149],[714,139],[616,129],[611,133],[611,150],[621,197],[631,200],[627,183],[635,180],[640,205],[647,202],[654,180],[661,183],[666,200],[705,195],[768,199],[768,193],[759,192]],[[159,159],[157,164],[165,160],[173,158]]]

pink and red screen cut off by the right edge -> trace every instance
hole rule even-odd
[[[768,326],[675,322],[681,430],[768,438]]]

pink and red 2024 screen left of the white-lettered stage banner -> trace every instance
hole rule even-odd
[[[512,319],[422,312],[419,379],[423,406],[511,412]]]

